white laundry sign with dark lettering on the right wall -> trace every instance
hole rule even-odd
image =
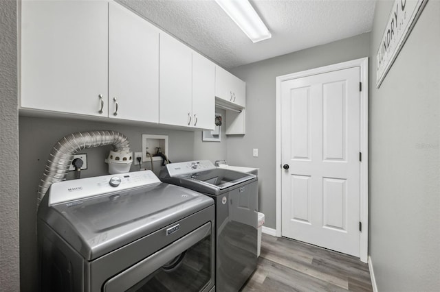
[[[386,73],[404,46],[412,27],[428,0],[395,0],[384,35],[377,49],[376,87],[379,88]]]

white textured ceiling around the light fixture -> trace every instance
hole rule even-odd
[[[254,0],[272,38],[253,43],[213,0],[118,0],[226,69],[370,32],[374,0]]]

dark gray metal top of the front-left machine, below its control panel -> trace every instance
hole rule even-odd
[[[52,206],[47,197],[39,218],[87,260],[214,204],[205,195],[160,182]]]

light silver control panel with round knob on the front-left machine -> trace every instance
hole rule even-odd
[[[50,186],[50,192],[46,195],[50,196],[49,205],[54,205],[159,183],[159,178],[152,171],[135,171],[56,182]]]

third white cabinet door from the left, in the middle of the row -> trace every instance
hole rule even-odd
[[[159,123],[191,126],[191,49],[165,33],[159,39]]]

